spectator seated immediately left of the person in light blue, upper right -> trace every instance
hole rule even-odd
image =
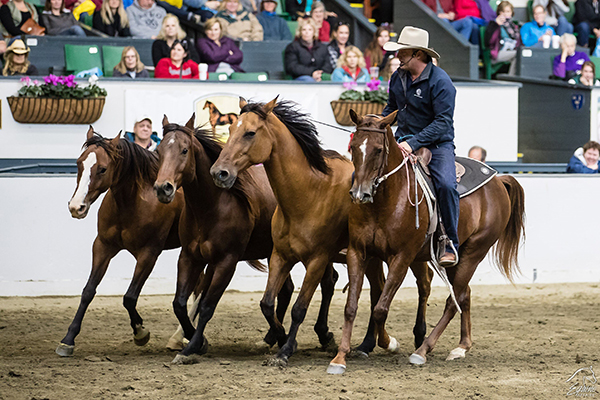
[[[508,1],[498,4],[498,17],[485,29],[485,42],[490,49],[492,63],[510,62],[509,75],[517,70],[517,49],[521,46],[519,27],[512,21],[513,5]]]

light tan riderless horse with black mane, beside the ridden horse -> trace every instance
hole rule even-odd
[[[348,245],[348,191],[352,163],[335,151],[320,146],[317,130],[295,103],[277,98],[268,104],[248,103],[240,99],[240,118],[230,128],[230,135],[219,159],[211,168],[215,184],[231,188],[252,165],[262,163],[277,198],[273,216],[273,254],[269,264],[267,288],[261,300],[263,315],[285,345],[269,364],[285,366],[296,351],[296,335],[303,322],[312,296],[323,274],[333,269],[332,263],[345,262],[339,252]],[[280,319],[274,313],[275,296],[279,293],[291,268],[301,261],[306,276],[292,309],[292,325],[286,337]],[[417,274],[416,274],[417,275]],[[423,271],[419,276],[426,276]],[[372,298],[379,298],[385,280],[380,262],[369,269]],[[420,309],[424,310],[430,282],[420,279]],[[333,292],[333,287],[323,287]],[[374,304],[374,303],[373,303]],[[419,312],[415,340],[420,344],[425,335],[425,314]],[[333,343],[327,325],[315,330],[323,346]],[[373,324],[369,323],[369,331]],[[422,334],[420,334],[422,332]],[[367,333],[359,352],[373,348]],[[394,338],[381,335],[379,345],[390,351],[398,349]]]

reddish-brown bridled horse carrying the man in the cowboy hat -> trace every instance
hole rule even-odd
[[[397,170],[405,157],[396,145],[390,124],[397,111],[385,118],[376,115],[360,117],[350,110],[356,124],[350,147],[355,178],[350,190],[354,205],[350,211],[348,276],[350,287],[344,313],[342,341],[337,356],[327,372],[341,374],[346,370],[346,355],[350,352],[352,326],[358,307],[367,261],[381,259],[389,273],[381,297],[373,309],[376,333],[382,332],[390,304],[402,284],[409,266],[430,260],[427,229],[429,213],[425,202],[419,207],[419,228],[415,226],[416,209],[411,204],[415,177],[410,163]],[[406,162],[406,161],[404,161]],[[397,172],[392,172],[396,170]],[[385,179],[379,179],[381,177]],[[379,186],[378,186],[379,185]],[[410,190],[410,192],[409,192]],[[421,194],[418,194],[419,197]],[[409,198],[410,196],[410,198]],[[448,360],[464,357],[471,348],[471,289],[469,281],[488,250],[495,244],[494,261],[500,272],[511,282],[518,271],[517,257],[524,235],[524,192],[512,176],[494,176],[485,186],[460,200],[458,236],[459,263],[447,268],[458,305],[462,309],[461,336],[457,348]],[[410,356],[413,364],[424,364],[426,354],[435,346],[457,312],[448,297],[444,314],[431,334]]]

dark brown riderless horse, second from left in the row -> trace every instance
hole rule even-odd
[[[156,196],[165,203],[173,199],[177,188],[184,188],[185,204],[179,225],[182,251],[173,309],[190,343],[175,357],[176,364],[198,362],[198,356],[207,351],[204,329],[233,277],[237,262],[270,257],[271,218],[277,204],[262,167],[241,174],[232,190],[215,186],[209,169],[221,153],[221,144],[207,131],[194,130],[193,122],[194,116],[186,126],[171,124],[166,116],[163,119],[164,139],[157,148],[160,168],[154,185]],[[260,263],[253,265],[261,269]],[[198,327],[194,329],[186,314],[186,302],[205,267],[206,285],[200,298]],[[323,278],[322,285],[333,287],[335,279],[332,272]],[[280,319],[293,290],[288,275],[278,296]],[[318,326],[326,324],[323,319],[329,312],[331,296],[333,292],[323,297]],[[269,330],[264,341],[273,346],[278,339]],[[283,342],[279,344],[282,346]]]

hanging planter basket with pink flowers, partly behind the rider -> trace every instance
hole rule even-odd
[[[331,109],[338,124],[352,126],[348,111],[353,109],[358,115],[381,114],[387,104],[388,92],[380,87],[381,82],[373,79],[367,83],[365,90],[356,90],[356,82],[345,82],[347,89],[340,95],[339,100],[331,102]]]

